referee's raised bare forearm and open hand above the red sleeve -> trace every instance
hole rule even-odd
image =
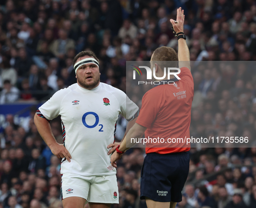
[[[173,19],[170,19],[173,29],[177,34],[179,32],[183,33],[184,19],[185,19],[184,10],[181,10],[181,7],[177,9],[176,21]],[[178,61],[179,61],[178,62],[179,68],[187,67],[188,69],[190,69],[189,50],[188,50],[186,40],[184,38],[180,38],[178,40]]]

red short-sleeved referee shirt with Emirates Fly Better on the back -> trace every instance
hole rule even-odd
[[[186,67],[181,68],[178,76],[180,79],[166,80],[174,81],[175,85],[168,85],[167,82],[165,85],[156,85],[142,98],[142,107],[136,123],[147,128],[145,138],[159,137],[164,138],[166,142],[146,143],[146,154],[151,152],[168,154],[190,149],[190,144],[187,145],[186,142],[167,142],[169,138],[190,137],[194,82],[190,70]]]

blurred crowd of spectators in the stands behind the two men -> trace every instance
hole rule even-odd
[[[253,0],[0,0],[0,104],[47,100],[76,82],[72,60],[92,50],[101,82],[126,91],[126,61],[150,60],[157,47],[178,50],[169,19],[185,9],[184,33],[194,78],[191,136],[256,133],[256,65],[205,67],[204,61],[256,61]],[[241,63],[241,62],[240,62]],[[134,91],[136,95],[136,91]],[[138,105],[140,100],[133,99]],[[59,159],[33,123],[7,115],[0,135],[0,208],[62,208]],[[62,143],[59,118],[52,131]],[[126,128],[117,122],[116,139]],[[256,148],[191,148],[188,182],[178,208],[255,208]],[[120,204],[139,200],[143,148],[118,161]]]

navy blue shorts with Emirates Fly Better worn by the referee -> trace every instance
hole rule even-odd
[[[141,170],[140,199],[181,202],[188,170],[188,152],[147,154]]]

